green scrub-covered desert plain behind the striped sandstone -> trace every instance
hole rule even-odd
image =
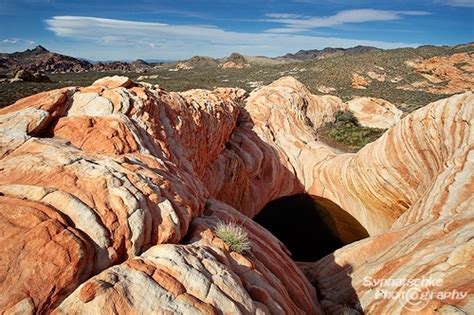
[[[300,62],[262,62],[258,58],[249,58],[250,68],[223,69],[216,66],[196,67],[189,70],[173,70],[175,64],[164,64],[149,70],[147,75],[156,75],[156,79],[147,82],[159,84],[170,91],[186,91],[194,88],[213,89],[216,87],[239,87],[247,91],[259,85],[267,85],[278,78],[291,75],[305,84],[315,94],[321,84],[331,87],[331,94],[344,101],[355,96],[373,96],[388,100],[400,109],[410,112],[429,102],[447,97],[446,94],[432,94],[421,90],[406,91],[398,89],[401,85],[411,84],[423,79],[405,64],[408,60],[430,58],[452,53],[472,51],[471,46],[451,48],[447,46],[422,46],[419,48],[400,48],[384,51],[371,51],[360,55],[327,57],[320,60]],[[271,59],[267,59],[271,60]],[[384,82],[372,80],[367,89],[351,87],[352,73],[366,74],[370,71],[384,74]],[[143,73],[138,72],[82,72],[49,74],[51,83],[21,82],[0,83],[0,107],[13,103],[21,97],[65,86],[86,86],[100,77],[120,74],[136,80]],[[394,81],[394,82],[392,82]]]

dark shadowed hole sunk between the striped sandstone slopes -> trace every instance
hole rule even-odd
[[[285,244],[295,261],[316,261],[369,236],[338,205],[308,194],[273,200],[253,219]]]

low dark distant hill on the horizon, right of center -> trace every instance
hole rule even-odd
[[[332,48],[326,47],[324,49],[300,50],[294,54],[288,53],[280,58],[291,60],[317,60],[327,57],[335,56],[350,56],[360,55],[371,51],[381,51],[382,49],[371,46],[355,46],[351,48]]]

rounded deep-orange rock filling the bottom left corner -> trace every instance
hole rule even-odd
[[[41,313],[92,274],[86,234],[51,206],[0,196],[0,309]]]

